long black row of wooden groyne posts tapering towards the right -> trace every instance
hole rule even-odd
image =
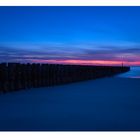
[[[0,93],[91,80],[127,72],[130,67],[60,64],[0,64]]]

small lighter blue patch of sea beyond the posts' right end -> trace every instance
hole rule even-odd
[[[117,77],[122,77],[122,78],[140,78],[140,67],[130,67],[130,71],[119,74]]]

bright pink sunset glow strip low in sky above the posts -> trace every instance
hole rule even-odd
[[[50,63],[50,64],[74,64],[74,65],[122,65],[120,60],[39,60],[39,59],[30,59],[32,63]],[[123,64],[126,66],[140,66],[140,61],[130,62],[123,61]]]

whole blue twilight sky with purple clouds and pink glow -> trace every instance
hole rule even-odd
[[[0,62],[140,66],[140,7],[0,7]]]

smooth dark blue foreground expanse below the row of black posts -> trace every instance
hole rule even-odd
[[[140,79],[104,78],[0,95],[0,130],[140,130]]]

